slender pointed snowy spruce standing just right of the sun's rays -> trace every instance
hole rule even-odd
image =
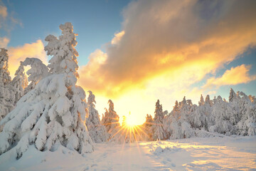
[[[166,131],[164,130],[164,113],[162,105],[160,105],[159,100],[156,101],[154,121],[151,126],[152,129],[152,138],[153,140],[165,140],[167,138]]]

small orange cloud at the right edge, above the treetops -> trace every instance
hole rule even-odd
[[[235,68],[231,68],[230,70],[225,71],[221,77],[209,78],[206,82],[206,85],[204,85],[202,88],[237,85],[240,83],[249,83],[250,81],[254,81],[256,80],[256,75],[249,75],[250,68],[251,66],[245,66],[244,64]]]

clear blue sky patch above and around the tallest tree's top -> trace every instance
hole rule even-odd
[[[10,33],[9,46],[22,46],[43,40],[49,34],[58,36],[58,26],[72,22],[78,33],[79,63],[85,65],[87,57],[96,48],[102,48],[122,27],[122,9],[129,1],[3,1],[8,12],[20,24]],[[1,30],[1,36],[6,31]]]

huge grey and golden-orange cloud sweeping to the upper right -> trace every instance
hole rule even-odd
[[[256,43],[256,1],[132,1],[123,16],[104,61],[80,69],[85,89],[110,98],[159,77],[155,88],[186,89]]]

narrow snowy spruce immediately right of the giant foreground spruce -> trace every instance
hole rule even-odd
[[[86,119],[86,126],[89,130],[90,137],[93,142],[106,142],[108,139],[108,133],[104,125],[100,122],[100,115],[95,109],[95,95],[92,94],[92,91],[89,92],[89,97],[87,98],[88,105],[88,118]]]

